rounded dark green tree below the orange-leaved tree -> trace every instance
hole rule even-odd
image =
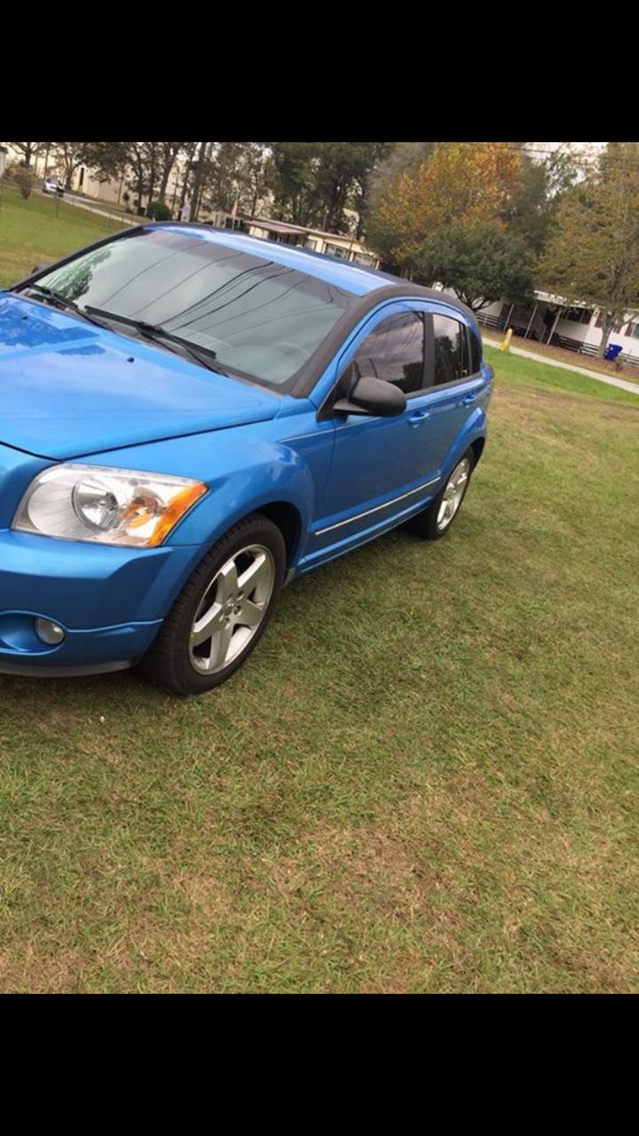
[[[481,311],[496,300],[525,303],[533,291],[533,257],[521,236],[496,222],[438,228],[417,262],[417,275],[455,290],[460,300]]]

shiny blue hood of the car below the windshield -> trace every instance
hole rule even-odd
[[[0,293],[0,442],[55,460],[274,418],[281,399]]]

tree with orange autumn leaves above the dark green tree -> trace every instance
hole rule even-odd
[[[389,182],[366,232],[391,264],[415,272],[439,228],[504,220],[521,184],[509,142],[437,142],[415,170]]]

